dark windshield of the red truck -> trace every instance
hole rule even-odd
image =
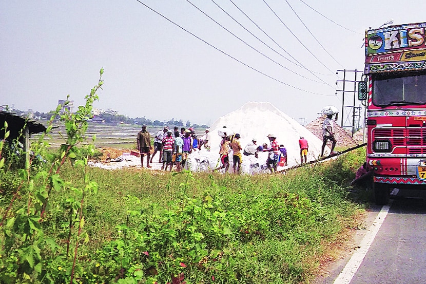
[[[382,107],[426,104],[426,72],[373,74],[373,104]]]

